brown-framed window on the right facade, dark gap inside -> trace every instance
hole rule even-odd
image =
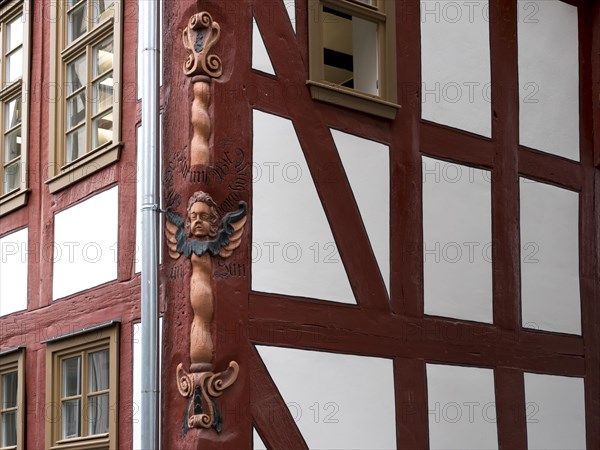
[[[395,0],[309,0],[312,97],[394,118]]]

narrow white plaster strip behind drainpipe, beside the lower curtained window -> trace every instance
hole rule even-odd
[[[162,380],[162,317],[158,319],[158,379]],[[144,450],[142,449],[142,427],[141,427],[141,408],[142,408],[142,324],[141,322],[133,324],[133,336],[132,336],[132,344],[133,344],[133,389],[132,389],[132,397],[131,397],[131,418],[133,423],[133,449],[134,450]],[[161,396],[160,390],[161,385],[159,383],[158,386],[159,395],[158,395],[158,415],[159,415],[159,423],[161,416]],[[160,434],[160,428],[159,434]]]

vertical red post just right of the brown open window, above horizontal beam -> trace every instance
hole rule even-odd
[[[409,317],[423,315],[419,5],[415,0],[396,2],[396,72],[401,109],[392,123],[390,155],[391,306],[394,313]]]

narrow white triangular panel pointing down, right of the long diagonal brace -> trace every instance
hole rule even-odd
[[[360,209],[385,286],[390,292],[390,149],[331,130]]]

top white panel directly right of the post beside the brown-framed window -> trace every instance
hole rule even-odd
[[[488,2],[420,5],[423,119],[490,137]]]

